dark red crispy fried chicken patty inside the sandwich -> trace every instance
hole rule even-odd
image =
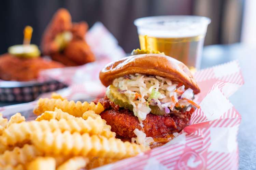
[[[189,125],[189,120],[195,108],[191,108],[189,112],[179,114],[169,114],[166,116],[154,115],[152,113],[146,116],[143,122],[143,129],[140,122],[133,112],[128,109],[119,108],[105,96],[94,102],[100,102],[105,111],[100,115],[106,123],[111,126],[111,131],[115,132],[122,139],[130,139],[136,137],[133,133],[134,129],[142,130],[147,137],[170,137],[175,132],[180,132]]]

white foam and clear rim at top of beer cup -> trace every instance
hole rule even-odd
[[[139,35],[179,38],[205,35],[209,18],[200,16],[156,16],[134,21]]]

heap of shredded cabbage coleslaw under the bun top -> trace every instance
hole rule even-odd
[[[147,76],[142,74],[130,74],[116,78],[113,85],[124,91],[129,104],[133,106],[133,113],[140,121],[145,120],[150,113],[150,105],[157,105],[168,114],[174,108],[187,107],[190,103],[185,99],[192,100],[194,97],[191,88],[178,86],[169,79],[159,76]],[[169,110],[170,109],[170,110]]]

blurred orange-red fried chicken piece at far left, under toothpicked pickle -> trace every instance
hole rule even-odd
[[[19,58],[11,54],[0,56],[0,79],[6,81],[30,81],[37,79],[39,71],[64,67],[63,64],[43,58]]]

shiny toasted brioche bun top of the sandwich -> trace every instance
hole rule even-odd
[[[100,72],[100,81],[104,86],[113,80],[128,74],[158,75],[171,81],[182,83],[186,88],[198,94],[200,89],[188,67],[176,59],[161,54],[140,54],[122,58],[106,65]]]

